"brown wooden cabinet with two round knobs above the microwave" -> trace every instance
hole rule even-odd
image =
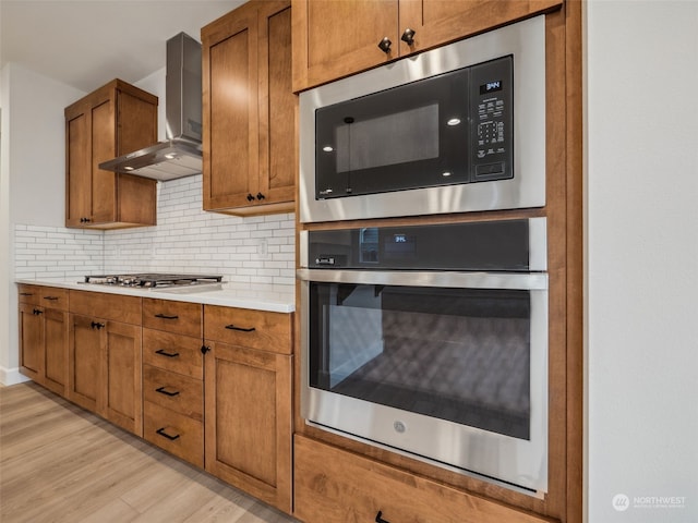
[[[293,92],[551,10],[563,0],[292,0]]]

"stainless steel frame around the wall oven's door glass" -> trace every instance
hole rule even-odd
[[[310,306],[310,281],[323,270],[299,270],[301,311]],[[332,271],[335,272],[335,271]],[[353,271],[349,272],[353,276]],[[412,272],[408,272],[409,278]],[[522,440],[445,419],[371,403],[309,386],[309,317],[301,321],[301,416],[321,428],[396,450],[432,464],[542,497],[547,491],[547,277],[531,290],[530,439]],[[534,279],[538,280],[538,279]],[[318,280],[312,280],[318,281]],[[335,281],[327,278],[323,281]],[[347,280],[342,280],[347,282]],[[361,281],[364,283],[364,281]],[[507,288],[508,287],[504,287]],[[399,421],[408,429],[397,433]]]

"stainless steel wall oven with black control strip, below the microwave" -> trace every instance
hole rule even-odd
[[[545,226],[303,231],[306,422],[546,491]]]

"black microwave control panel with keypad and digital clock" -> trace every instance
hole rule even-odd
[[[470,68],[470,180],[514,178],[514,66],[504,57]]]

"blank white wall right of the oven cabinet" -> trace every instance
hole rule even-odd
[[[697,35],[695,1],[587,4],[590,523],[698,521]]]

